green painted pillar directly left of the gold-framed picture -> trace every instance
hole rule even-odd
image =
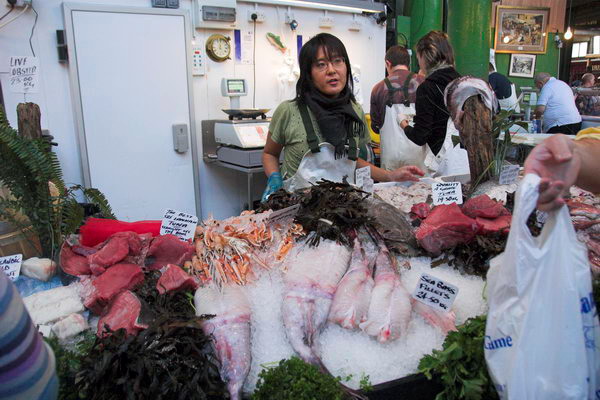
[[[461,75],[488,75],[491,0],[453,0],[448,9],[448,36]]]

